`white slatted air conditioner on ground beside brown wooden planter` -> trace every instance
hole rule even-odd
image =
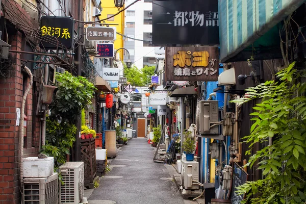
[[[60,203],[79,204],[84,197],[84,162],[66,162],[60,166]]]

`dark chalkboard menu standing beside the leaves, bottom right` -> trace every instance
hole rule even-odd
[[[238,195],[236,187],[247,182],[247,173],[236,162],[233,164],[233,180],[232,180],[232,194],[231,200],[233,204],[240,204],[244,199],[244,194]]]

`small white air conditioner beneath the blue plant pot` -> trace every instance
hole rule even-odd
[[[184,189],[199,189],[199,185],[192,185],[199,181],[199,163],[196,161],[187,162],[182,160],[182,185]]]

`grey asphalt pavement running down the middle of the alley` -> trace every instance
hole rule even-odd
[[[100,178],[99,187],[88,198],[89,203],[193,203],[184,200],[175,189],[168,170],[170,165],[153,162],[154,152],[144,138],[129,140],[110,163],[111,171]]]

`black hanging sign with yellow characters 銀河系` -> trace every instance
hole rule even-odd
[[[42,37],[48,41],[42,41],[41,47],[57,49],[61,43],[67,49],[73,48],[73,25],[71,17],[42,16],[40,18],[40,31]],[[53,43],[49,43],[49,42]]]

